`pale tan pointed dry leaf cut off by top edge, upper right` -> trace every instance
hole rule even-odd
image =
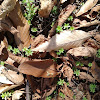
[[[80,16],[90,10],[92,7],[94,7],[97,4],[98,0],[87,0],[86,3],[81,7],[79,12],[76,14],[76,16]]]

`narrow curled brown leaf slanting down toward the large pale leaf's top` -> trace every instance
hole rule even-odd
[[[56,29],[57,26],[62,26],[63,25],[63,23],[67,20],[67,18],[73,12],[73,10],[75,10],[75,8],[76,8],[76,5],[69,4],[68,6],[66,6],[66,8],[64,8],[60,12],[58,20],[56,21],[56,23],[53,25],[53,27],[49,31],[49,36],[48,37],[51,37],[54,34],[55,29]]]

